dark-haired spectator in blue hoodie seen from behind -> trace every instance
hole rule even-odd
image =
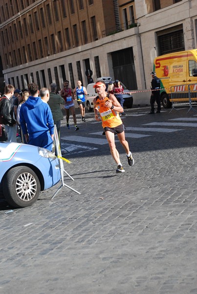
[[[29,98],[21,106],[20,123],[29,145],[52,150],[54,122],[50,107],[39,97],[38,85],[28,85]],[[49,93],[48,93],[49,95]]]

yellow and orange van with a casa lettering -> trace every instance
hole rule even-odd
[[[172,89],[184,92],[184,100],[189,100],[188,85],[197,83],[197,49],[158,56],[154,59],[153,71],[161,80],[160,97],[164,108],[172,106]],[[178,100],[178,95],[176,97]]]

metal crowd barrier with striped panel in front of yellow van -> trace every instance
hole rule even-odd
[[[171,90],[171,102],[172,102],[171,111],[173,109],[178,111],[178,109],[176,109],[175,106],[189,105],[188,112],[191,109],[194,112],[197,112],[197,110],[193,107],[193,106],[197,106],[197,84],[172,86],[170,90]]]

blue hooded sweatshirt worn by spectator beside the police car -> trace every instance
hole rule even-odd
[[[44,133],[54,132],[54,122],[50,107],[40,97],[32,97],[24,102],[20,109],[20,124],[23,134],[29,138],[41,136]]]

